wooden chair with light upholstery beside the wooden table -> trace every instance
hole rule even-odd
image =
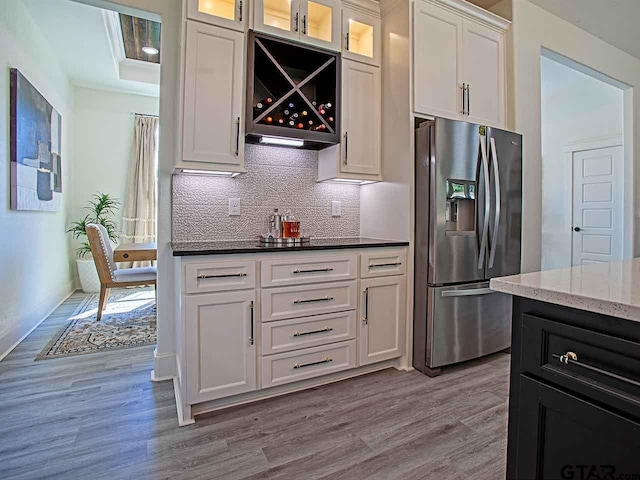
[[[93,261],[98,270],[100,279],[100,303],[98,305],[98,321],[102,318],[102,312],[107,306],[109,289],[117,287],[135,287],[141,285],[153,285],[156,287],[156,299],[158,290],[156,279],[158,272],[156,267],[123,268],[118,269],[113,261],[113,248],[109,241],[107,229],[99,224],[89,224],[86,227],[87,238],[91,246]]]

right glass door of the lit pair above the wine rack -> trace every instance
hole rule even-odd
[[[300,40],[340,51],[340,7],[336,0],[303,0]]]

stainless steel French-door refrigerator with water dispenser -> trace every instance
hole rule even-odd
[[[416,129],[413,366],[506,349],[511,299],[489,279],[520,273],[522,137],[437,118]]]

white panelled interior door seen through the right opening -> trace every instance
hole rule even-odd
[[[623,147],[573,154],[572,264],[622,260]]]

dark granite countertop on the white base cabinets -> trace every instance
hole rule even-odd
[[[358,237],[312,238],[310,243],[294,247],[261,245],[257,239],[228,242],[172,242],[171,249],[173,250],[174,257],[184,257],[189,255],[338,250],[343,248],[405,247],[407,245],[409,245],[409,242]]]

